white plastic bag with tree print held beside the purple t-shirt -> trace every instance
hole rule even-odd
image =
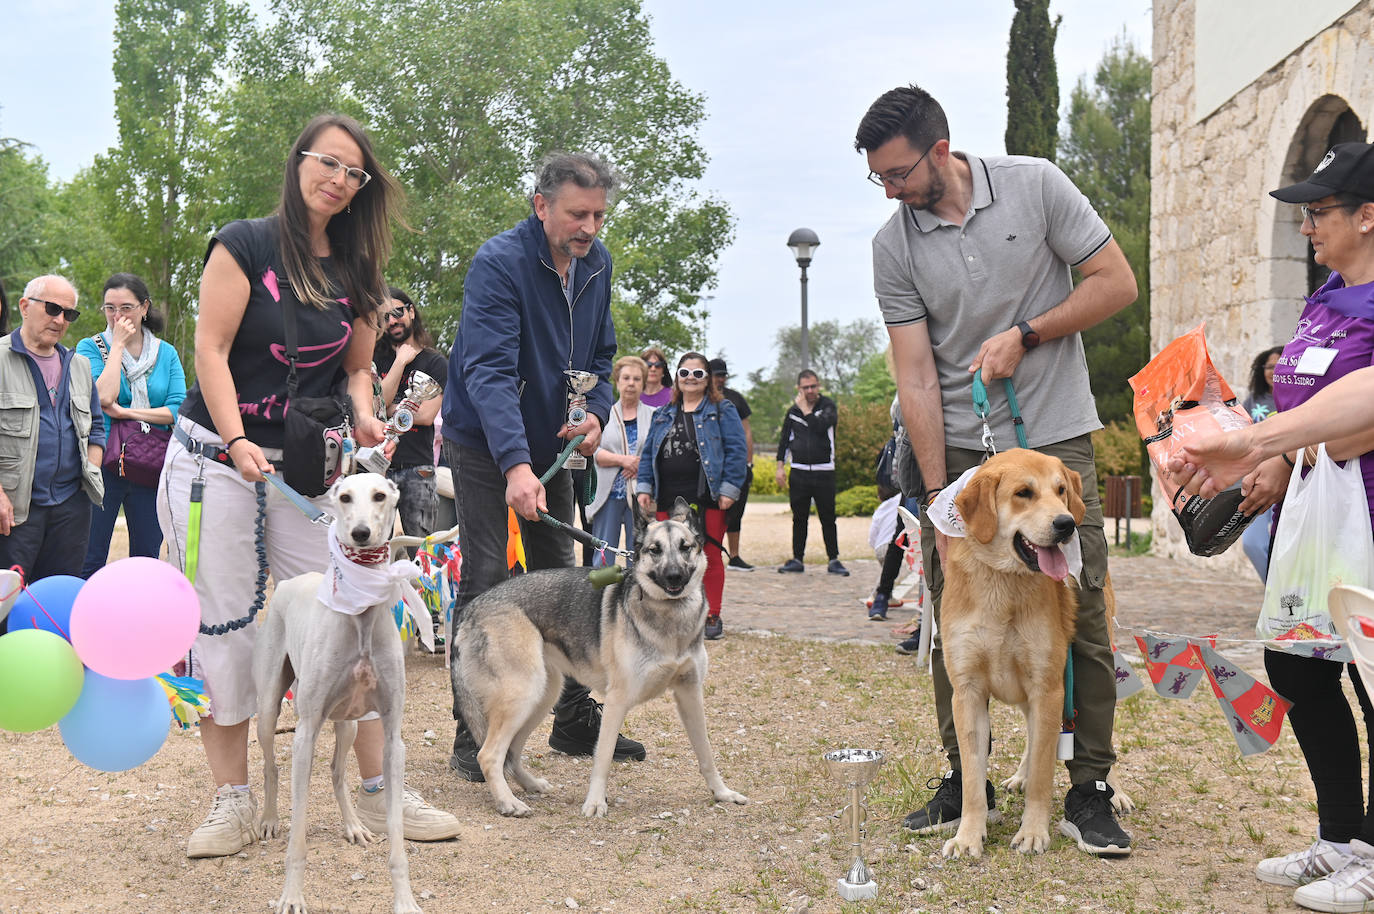
[[[1342,638],[1331,621],[1327,592],[1340,584],[1374,584],[1374,536],[1360,460],[1340,467],[1316,451],[1316,466],[1303,478],[1293,467],[1274,532],[1264,608],[1256,623],[1260,638],[1303,628],[1307,638]],[[1309,631],[1311,629],[1311,631]]]

